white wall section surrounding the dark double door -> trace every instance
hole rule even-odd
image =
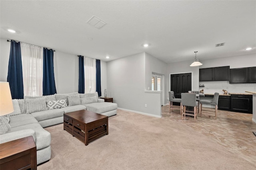
[[[167,98],[169,97],[168,92],[170,91],[170,74],[177,73],[192,73],[192,90],[199,90],[199,68],[198,67],[190,67],[190,64],[193,61],[182,61],[182,62],[174,62],[167,64],[166,69],[166,92],[165,92],[165,103],[169,103]]]

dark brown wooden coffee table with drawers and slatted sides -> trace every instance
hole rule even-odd
[[[108,135],[108,116],[79,110],[64,113],[64,130],[88,145],[89,142]]]

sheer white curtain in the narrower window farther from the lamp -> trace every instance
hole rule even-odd
[[[96,59],[84,58],[84,93],[96,92]]]

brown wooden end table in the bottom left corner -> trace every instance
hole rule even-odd
[[[36,170],[36,144],[32,136],[0,144],[0,170]]]

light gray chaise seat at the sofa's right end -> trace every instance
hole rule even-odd
[[[110,102],[89,103],[89,104],[84,104],[84,106],[86,106],[87,110],[91,112],[99,113],[99,114],[117,109],[117,104],[110,103]]]

